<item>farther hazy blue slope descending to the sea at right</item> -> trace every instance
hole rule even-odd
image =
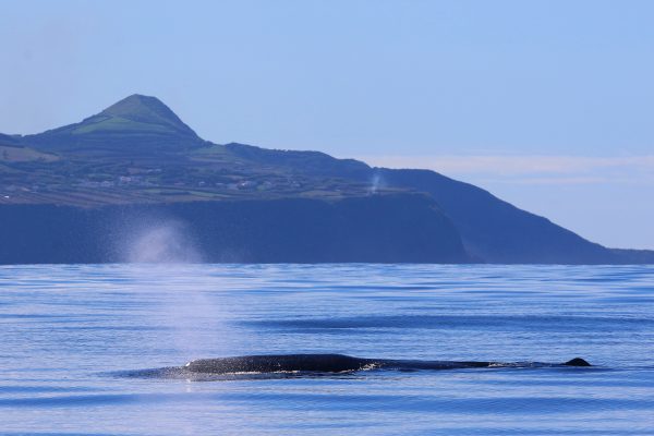
[[[468,252],[499,264],[629,263],[546,218],[521,210],[491,193],[433,171],[382,170],[387,183],[428,193],[459,230]]]

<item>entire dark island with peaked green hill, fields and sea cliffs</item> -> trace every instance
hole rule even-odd
[[[654,263],[434,171],[215,144],[155,97],[0,134],[0,264],[148,261],[135,242],[210,263]]]

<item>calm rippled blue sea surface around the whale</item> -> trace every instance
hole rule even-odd
[[[300,352],[597,367],[121,374]],[[654,267],[0,267],[0,433],[654,435]]]

